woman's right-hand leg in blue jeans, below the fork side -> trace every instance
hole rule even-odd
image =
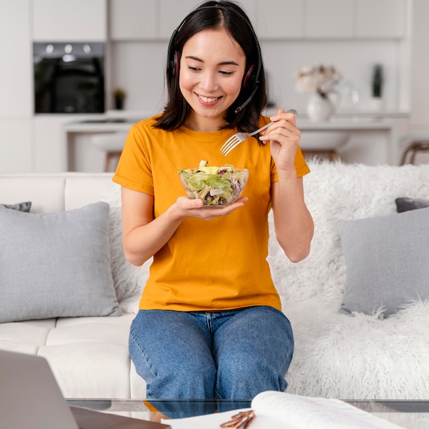
[[[235,334],[237,323],[247,326],[245,336]],[[294,343],[291,324],[281,312],[254,308],[222,328],[217,338],[219,397],[241,399],[264,390],[286,390],[284,376]]]

